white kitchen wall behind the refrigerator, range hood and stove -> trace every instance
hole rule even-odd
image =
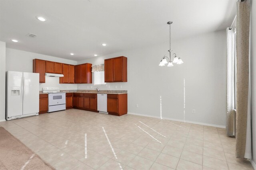
[[[74,65],[77,64],[77,61],[6,48],[6,71],[33,72],[33,59],[42,59]],[[59,84],[58,77],[46,76],[45,82],[46,83],[40,83],[40,90],[42,90],[43,87],[60,87],[61,90],[77,89],[76,84]]]

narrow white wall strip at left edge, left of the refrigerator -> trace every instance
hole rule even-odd
[[[5,120],[5,60],[6,44],[0,41],[0,121]]]

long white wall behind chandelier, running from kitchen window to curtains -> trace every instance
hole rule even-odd
[[[174,52],[184,64],[174,67],[158,66],[161,57],[168,53],[166,43],[114,53],[78,61],[104,63],[104,59],[125,56],[128,58],[128,82],[107,83],[101,90],[128,90],[128,112],[160,117],[184,119],[183,81],[186,83],[186,121],[225,125],[226,122],[226,31],[180,39],[172,42]],[[122,85],[122,89],[120,86]],[[110,86],[110,88],[109,88]],[[115,88],[117,86],[117,88]],[[79,89],[91,85],[78,84]],[[93,87],[94,89],[94,87]],[[136,107],[136,104],[139,107]],[[196,109],[196,114],[192,114]]]

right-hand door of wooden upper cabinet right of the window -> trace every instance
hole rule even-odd
[[[113,81],[123,81],[123,58],[116,57],[113,59]]]

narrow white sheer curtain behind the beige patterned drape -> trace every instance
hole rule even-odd
[[[226,29],[227,34],[227,80],[226,80],[226,134],[234,136],[234,62],[235,31],[234,27]]]

